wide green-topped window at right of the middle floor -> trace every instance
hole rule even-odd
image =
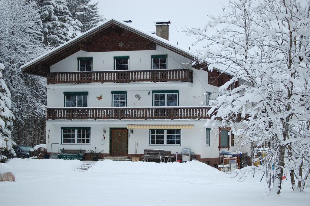
[[[152,93],[154,107],[179,106],[179,90],[156,90]]]

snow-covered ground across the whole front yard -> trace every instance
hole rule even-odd
[[[208,165],[97,162],[79,172],[79,160],[14,158],[6,163],[16,182],[0,182],[1,205],[309,205],[310,194],[292,193],[284,180],[281,197],[266,194],[260,171],[238,182]],[[266,186],[267,188],[267,186]]]

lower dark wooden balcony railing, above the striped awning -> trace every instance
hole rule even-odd
[[[78,107],[47,108],[47,120],[209,119],[210,107]]]

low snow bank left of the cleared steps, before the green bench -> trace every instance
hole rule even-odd
[[[55,159],[20,159],[13,158],[6,163],[15,170],[36,171],[75,171],[82,165],[80,160],[55,160]]]

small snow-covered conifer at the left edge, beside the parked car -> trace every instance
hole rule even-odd
[[[6,154],[15,155],[13,142],[11,139],[11,127],[13,125],[14,115],[11,112],[11,94],[7,89],[5,81],[2,79],[4,65],[0,63],[0,163],[3,163]]]

